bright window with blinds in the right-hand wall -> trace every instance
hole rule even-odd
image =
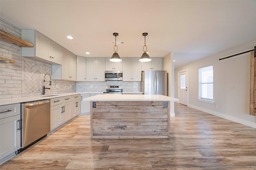
[[[213,100],[213,66],[198,69],[199,99]]]

